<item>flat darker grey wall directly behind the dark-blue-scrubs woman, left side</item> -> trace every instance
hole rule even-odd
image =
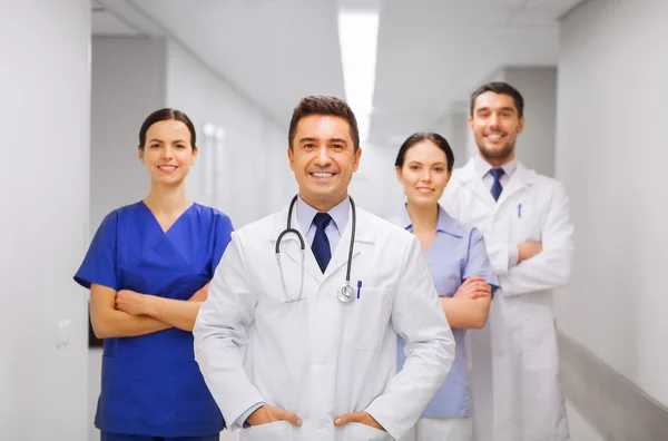
[[[90,133],[90,238],[115,208],[144,198],[149,188],[137,157],[139,127],[165,107],[167,42],[143,37],[94,37]],[[88,352],[88,440],[100,393],[101,349]]]

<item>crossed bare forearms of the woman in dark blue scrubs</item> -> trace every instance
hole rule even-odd
[[[187,301],[91,284],[92,330],[98,339],[139,336],[169,327],[191,332],[207,294],[208,284]]]

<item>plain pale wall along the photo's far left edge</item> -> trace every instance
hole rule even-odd
[[[0,4],[0,439],[84,441],[86,296],[71,277],[88,245],[90,3],[8,3]]]

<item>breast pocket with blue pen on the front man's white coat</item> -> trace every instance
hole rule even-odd
[[[343,305],[346,315],[343,341],[356,350],[373,350],[379,345],[381,331],[390,321],[390,290],[364,288],[360,298]]]

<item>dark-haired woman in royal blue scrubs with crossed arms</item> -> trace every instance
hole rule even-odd
[[[186,195],[195,141],[178,110],[144,121],[138,154],[148,196],[105,217],[75,275],[90,288],[92,327],[105,339],[95,419],[102,441],[217,441],[224,427],[191,331],[233,228]]]

